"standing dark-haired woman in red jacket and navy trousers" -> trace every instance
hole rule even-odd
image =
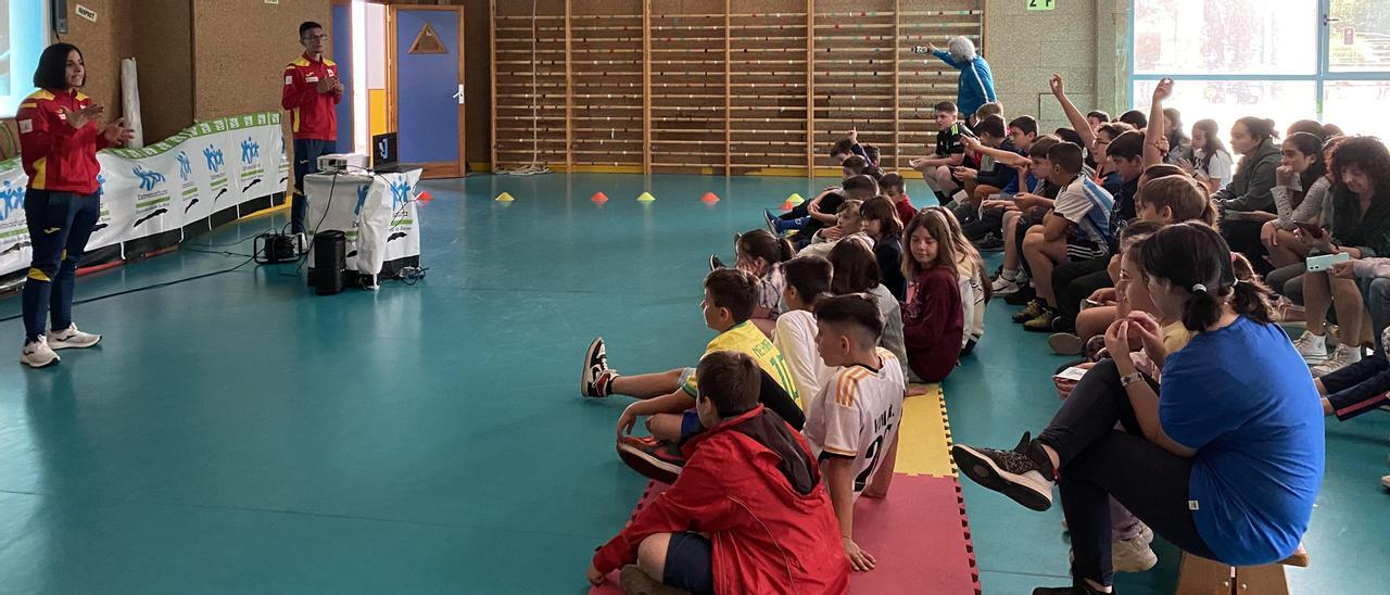
[[[132,136],[121,120],[101,127],[103,108],[78,89],[86,82],[82,51],[70,43],[43,50],[33,71],[39,90],[19,104],[19,153],[29,185],[24,213],[33,263],[24,284],[24,352],[19,361],[44,367],[54,349],[90,348],[101,335],[72,324],[72,282],[82,250],[101,214],[96,152]],[[46,314],[53,317],[47,332]]]

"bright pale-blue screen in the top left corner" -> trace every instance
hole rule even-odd
[[[49,42],[49,3],[0,0],[0,117],[33,92],[33,67]]]

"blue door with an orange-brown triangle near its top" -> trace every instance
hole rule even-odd
[[[396,7],[393,11],[400,161],[425,164],[425,177],[461,177],[463,10]],[[431,32],[434,40],[425,39]]]

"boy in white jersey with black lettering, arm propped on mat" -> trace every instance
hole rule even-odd
[[[878,348],[883,318],[869,295],[817,302],[816,327],[820,359],[841,370],[816,396],[806,420],[806,441],[826,474],[851,566],[856,571],[873,570],[874,557],[853,539],[855,499],[860,494],[888,494],[906,384],[898,359]]]

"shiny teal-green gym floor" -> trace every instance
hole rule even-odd
[[[46,370],[18,363],[19,300],[0,299],[14,317],[0,323],[0,592],[584,592],[594,548],[645,484],[613,455],[627,400],[578,395],[584,348],[603,335],[627,373],[692,364],[710,338],[706,256],[731,260],[760,209],[834,182],[427,182],[430,271],[414,286],[316,296],[293,264],[249,264],[76,306],[104,341]],[[502,190],[516,202],[493,202]],[[612,200],[595,206],[596,190]],[[642,190],[656,202],[637,203]],[[922,206],[922,182],[909,192]],[[282,222],[83,277],[78,299],[235,267],[246,257],[193,247]],[[1048,377],[1063,359],[1009,310],[990,304],[980,348],[945,382],[956,441],[1012,445],[1058,407]],[[1383,592],[1387,437],[1382,411],[1329,421],[1294,592]],[[986,594],[1068,582],[1059,507],[969,481],[965,494]],[[1159,567],[1120,576],[1120,592],[1172,592],[1179,555],[1155,549]]]

